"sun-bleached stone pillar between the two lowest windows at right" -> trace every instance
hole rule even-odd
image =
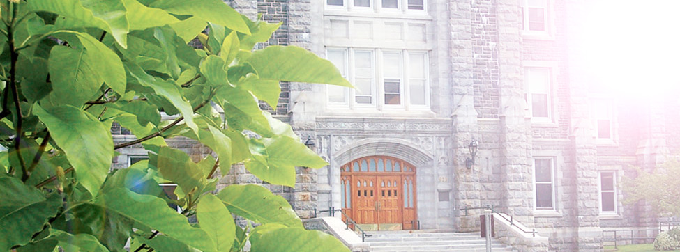
[[[602,230],[599,219],[598,195],[598,164],[595,134],[589,113],[587,90],[589,77],[587,76],[587,57],[583,54],[588,45],[588,38],[584,38],[581,27],[586,27],[582,18],[587,10],[585,0],[572,0],[568,6],[566,22],[570,24],[566,33],[569,66],[569,106],[571,111],[571,135],[573,147],[573,180],[575,194],[571,208],[573,227],[575,228],[574,249],[579,251],[602,250]]]

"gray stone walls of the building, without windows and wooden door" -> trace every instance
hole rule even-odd
[[[428,52],[425,111],[334,109],[326,87],[299,83],[281,84],[277,108],[262,104],[290,123],[301,139],[315,139],[317,153],[330,163],[319,170],[298,168],[294,188],[265,185],[289,200],[301,217],[309,218],[315,209],[340,208],[340,166],[381,155],[416,167],[423,229],[478,230],[481,211],[465,214],[462,209],[492,205],[549,237],[551,251],[598,251],[603,248],[602,230],[656,226],[658,219],[648,205],[621,204],[625,195],[620,189],[615,191],[616,211],[602,214],[599,174],[632,176],[633,166],[649,170],[677,152],[680,116],[672,111],[680,102],[670,95],[645,104],[633,98],[613,102],[611,141],[597,139],[591,99],[595,84],[586,74],[584,55],[574,49],[587,42],[577,34],[587,25],[582,13],[589,1],[547,0],[545,36],[524,31],[522,0],[425,0],[425,10],[416,15],[331,11],[320,0],[225,2],[251,18],[261,14],[268,22],[282,22],[262,47],[296,45],[322,57],[328,47]],[[333,34],[338,20],[347,24],[347,41]],[[370,24],[371,36],[383,34],[376,27],[396,23],[406,37],[389,43],[375,37],[352,40],[351,28],[358,22]],[[409,42],[411,26],[425,27],[425,41]],[[552,70],[549,122],[534,120],[529,111],[527,66]],[[112,130],[123,134],[116,137],[127,137],[124,129]],[[473,138],[479,149],[469,169],[465,162]],[[197,157],[208,154],[195,143],[176,144]],[[118,162],[143,154],[136,150],[121,151]],[[536,157],[550,158],[554,165],[551,210],[536,207]],[[220,182],[222,187],[262,183],[243,166],[234,166]]]

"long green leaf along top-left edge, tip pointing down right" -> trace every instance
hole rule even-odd
[[[125,19],[125,6],[121,1],[115,0],[106,1],[107,3],[102,3],[102,6],[97,6],[96,2],[96,0],[33,0],[28,1],[28,6],[33,11],[47,11],[68,17],[68,19],[75,19],[76,24],[81,26],[103,29],[112,33],[116,42],[125,48],[128,32],[126,22],[122,21]],[[104,6],[105,4],[112,9],[108,9],[108,6]]]

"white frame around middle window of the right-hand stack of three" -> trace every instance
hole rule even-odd
[[[550,78],[548,83],[548,93],[547,93],[547,110],[548,116],[546,117],[534,117],[534,111],[532,108],[531,93],[529,93],[529,87],[527,86],[527,68],[546,68],[550,72]],[[559,118],[559,113],[557,111],[558,99],[557,99],[557,62],[554,61],[523,61],[522,62],[522,77],[524,86],[524,95],[527,97],[527,117],[531,118],[531,123],[542,124],[544,126],[557,127],[557,118]]]

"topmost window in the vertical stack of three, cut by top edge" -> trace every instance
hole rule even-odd
[[[522,0],[525,35],[551,36],[550,0]]]

